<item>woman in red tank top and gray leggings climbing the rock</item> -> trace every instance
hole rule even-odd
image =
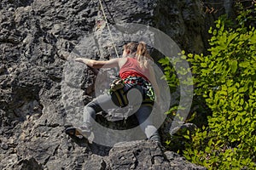
[[[84,58],[75,59],[75,61],[92,68],[119,67],[119,80],[113,81],[108,94],[102,94],[84,106],[83,126],[78,128],[68,127],[66,133],[81,134],[88,138],[93,131],[91,122],[92,119],[96,118],[96,113],[106,108],[114,108],[116,105],[119,107],[131,105],[132,102],[127,98],[127,94],[132,88],[136,88],[141,92],[141,96],[143,96],[143,101],[135,113],[137,121],[149,140],[160,143],[160,135],[153,123],[148,119],[153,109],[154,99],[160,96],[153,67],[149,65],[152,60],[144,42],[125,44],[122,58],[107,61]],[[136,100],[137,98],[134,97],[134,99]]]

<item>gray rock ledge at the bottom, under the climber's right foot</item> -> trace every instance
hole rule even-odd
[[[109,151],[109,169],[198,169],[177,153],[160,149],[150,141],[134,141],[115,144]]]

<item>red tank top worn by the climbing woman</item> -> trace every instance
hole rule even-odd
[[[147,68],[142,68],[137,59],[127,58],[125,65],[119,71],[119,77],[125,79],[127,77],[143,77],[146,80],[149,79],[149,71]]]

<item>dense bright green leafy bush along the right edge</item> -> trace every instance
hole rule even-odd
[[[208,169],[256,169],[256,30],[244,24],[249,13],[241,12],[233,28],[217,20],[209,30],[210,54],[187,55],[195,95],[212,116],[206,127],[183,136],[191,141],[183,156]]]

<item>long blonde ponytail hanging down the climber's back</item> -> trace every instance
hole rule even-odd
[[[153,60],[148,54],[148,49],[145,42],[138,43],[136,58],[140,66],[144,68],[148,68],[148,61]]]

